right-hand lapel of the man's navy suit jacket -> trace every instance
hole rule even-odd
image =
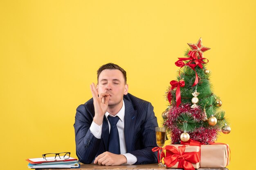
[[[126,143],[126,150],[129,152],[132,149],[133,134],[136,122],[137,111],[133,109],[132,103],[124,98],[125,112],[124,112],[124,137]]]

